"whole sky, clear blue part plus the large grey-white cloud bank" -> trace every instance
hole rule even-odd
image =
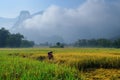
[[[25,20],[15,30],[37,43],[120,37],[120,0],[0,2],[0,16],[15,17],[21,10],[28,10],[30,13],[43,11],[42,14]]]

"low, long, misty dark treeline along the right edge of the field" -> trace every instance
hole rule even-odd
[[[74,43],[75,47],[111,47],[120,48],[120,38],[116,40],[109,39],[80,39]]]

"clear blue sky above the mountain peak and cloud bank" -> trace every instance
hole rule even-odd
[[[30,13],[45,10],[51,5],[76,8],[85,0],[0,0],[0,17],[16,17],[21,10]]]

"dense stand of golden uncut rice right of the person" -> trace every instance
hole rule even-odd
[[[64,57],[63,57],[64,56]],[[75,67],[78,70],[86,69],[120,69],[120,55],[112,54],[64,54],[56,55],[55,63]]]

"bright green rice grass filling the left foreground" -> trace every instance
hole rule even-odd
[[[78,80],[75,69],[19,57],[0,57],[0,80]]]

